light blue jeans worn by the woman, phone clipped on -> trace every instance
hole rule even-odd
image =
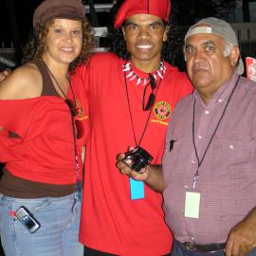
[[[20,206],[25,206],[40,222],[41,228],[35,233],[13,216]],[[37,199],[0,194],[0,236],[6,256],[82,256],[80,214],[77,193]]]

